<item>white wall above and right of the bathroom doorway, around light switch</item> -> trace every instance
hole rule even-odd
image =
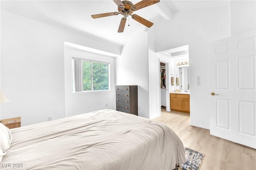
[[[230,36],[228,7],[178,12],[154,25],[156,52],[189,45],[190,123],[209,128],[209,43]],[[197,86],[196,77],[201,76]],[[155,77],[156,80],[156,77]]]

